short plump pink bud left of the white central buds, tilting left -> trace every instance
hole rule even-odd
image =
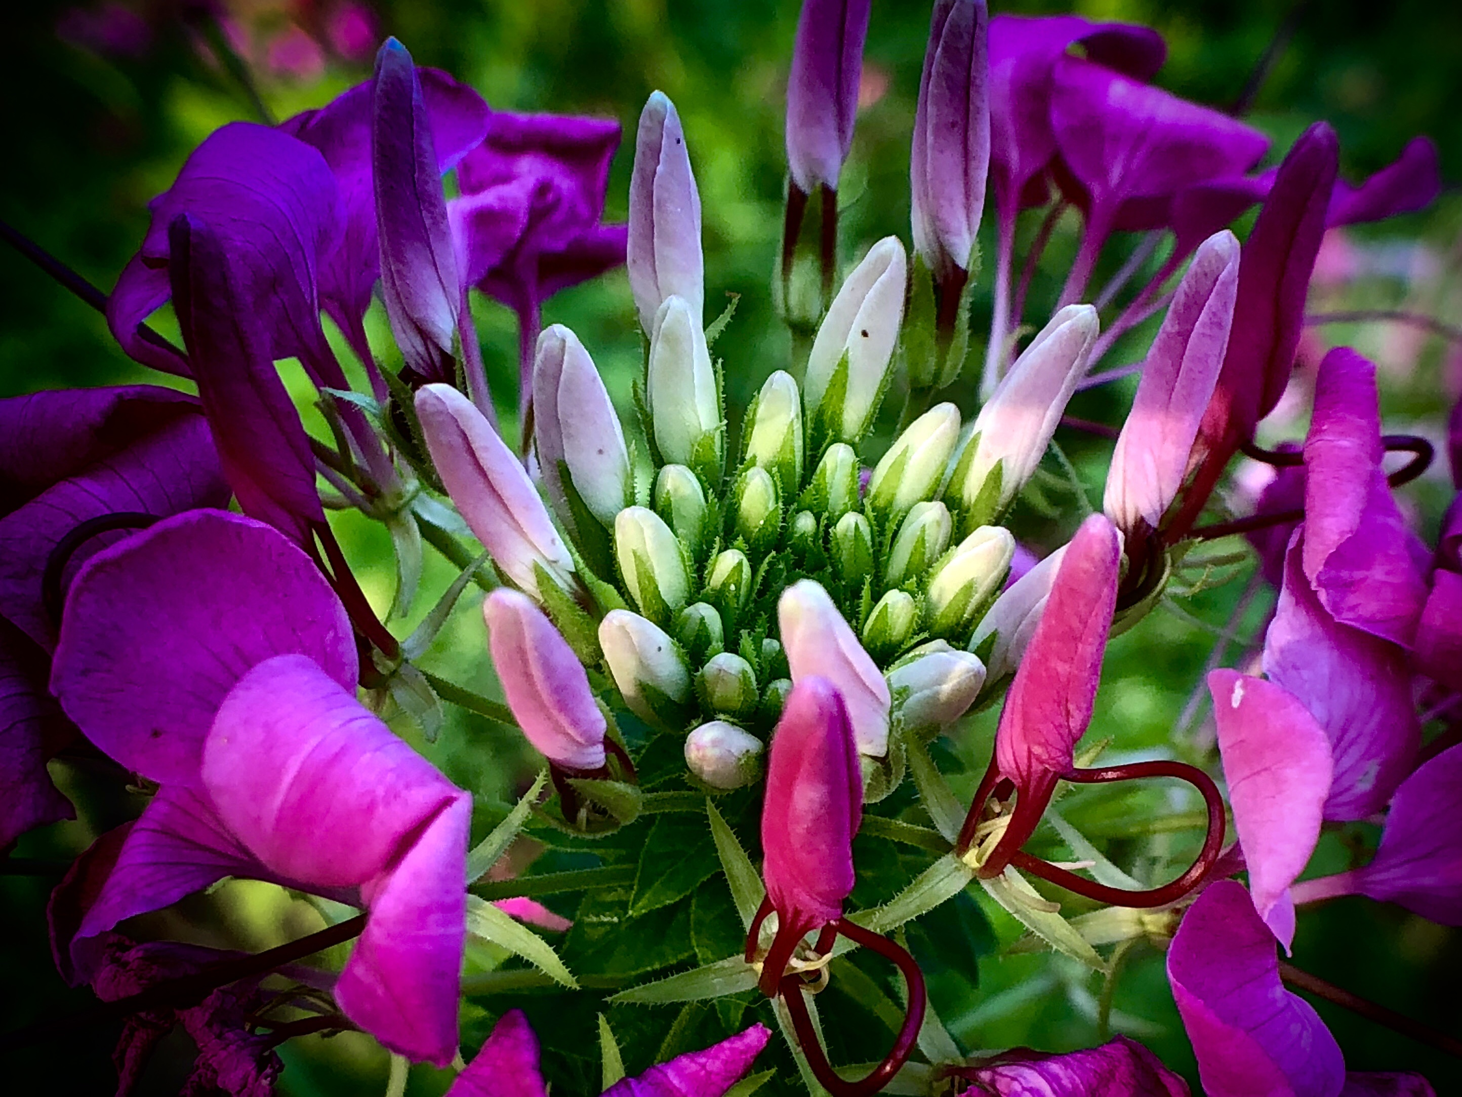
[[[528,742],[564,769],[601,768],[607,724],[573,648],[518,591],[493,591],[482,608],[493,666]]]

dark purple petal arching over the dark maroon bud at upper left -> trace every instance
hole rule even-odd
[[[235,121],[199,145],[173,187],[152,200],[152,224],[108,301],[108,323],[129,354],[161,369],[170,366],[156,361],[159,351],[136,328],[167,300],[168,233],[181,215],[218,234],[265,333],[263,353],[270,360],[298,355],[320,383],[344,383],[320,328],[316,287],[319,266],[344,231],[325,158],[288,133]]]

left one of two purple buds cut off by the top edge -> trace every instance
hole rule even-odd
[[[871,0],[804,0],[787,78],[787,165],[810,195],[838,189],[858,114]]]

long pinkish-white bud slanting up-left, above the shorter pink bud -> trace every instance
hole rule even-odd
[[[424,385],[417,414],[447,494],[503,575],[534,595],[535,565],[572,585],[573,559],[532,480],[472,401],[450,385]]]

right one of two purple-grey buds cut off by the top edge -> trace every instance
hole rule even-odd
[[[934,4],[909,178],[914,247],[937,275],[966,269],[990,171],[990,88],[984,0]]]

